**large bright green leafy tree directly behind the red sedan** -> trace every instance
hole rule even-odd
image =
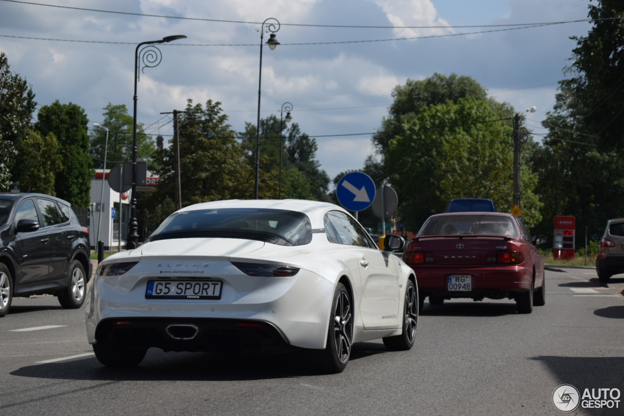
[[[452,198],[489,198],[499,210],[512,207],[513,139],[509,106],[474,97],[421,109],[389,142],[386,163],[399,194],[400,212],[417,229],[432,214],[444,212]],[[492,122],[484,122],[492,121]],[[537,177],[521,170],[525,224],[540,220],[533,194]]]

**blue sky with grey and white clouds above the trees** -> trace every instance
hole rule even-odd
[[[32,84],[40,105],[56,99],[84,107],[91,122],[102,121],[109,102],[132,111],[135,44],[173,34],[178,44],[254,44],[184,46],[165,44],[162,63],[145,68],[139,82],[139,122],[150,125],[160,112],[195,102],[221,101],[236,131],[254,122],[258,100],[260,34],[268,17],[281,22],[281,45],[263,50],[262,116],[278,114],[290,101],[294,120],[311,136],[374,132],[391,91],[407,78],[434,72],[474,77],[499,101],[517,111],[537,106],[529,126],[539,127],[552,109],[557,81],[587,22],[509,31],[383,42],[363,41],[457,35],[523,24],[585,19],[587,0],[31,0],[41,4],[164,16],[220,19],[193,21],[111,14],[0,0],[0,51],[12,71]],[[314,27],[288,24],[386,26]],[[434,26],[401,28],[400,26]],[[457,27],[481,26],[481,27]],[[74,41],[130,42],[130,44]],[[265,41],[268,36],[265,36]],[[173,43],[173,42],[172,42]],[[134,45],[133,45],[134,44]],[[167,117],[160,121],[164,124]],[[150,131],[171,134],[171,123]],[[535,129],[535,132],[543,130]],[[372,152],[369,135],[318,137],[318,159],[333,177],[358,169]]]

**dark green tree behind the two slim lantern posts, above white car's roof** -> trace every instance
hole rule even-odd
[[[281,129],[280,129],[281,127]],[[255,168],[256,125],[245,123],[245,131],[238,136],[250,166]],[[279,176],[280,136],[282,136],[283,198],[328,201],[329,176],[316,160],[316,139],[301,132],[297,123],[290,127],[275,115],[260,120],[261,172],[274,172]],[[306,183],[307,182],[307,183]],[[273,198],[278,197],[278,192]]]

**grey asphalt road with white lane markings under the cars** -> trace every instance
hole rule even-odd
[[[560,270],[546,272],[547,303],[530,315],[510,300],[426,303],[412,350],[355,344],[335,375],[314,374],[296,357],[155,349],[135,369],[108,369],[84,355],[92,353],[84,308],[15,299],[0,319],[0,414],[558,414],[551,397],[560,384],[624,393],[624,275],[602,285],[591,269]],[[63,326],[15,331],[43,325]],[[572,414],[622,408],[624,395],[620,409]]]

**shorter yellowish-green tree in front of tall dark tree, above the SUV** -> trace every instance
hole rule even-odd
[[[24,164],[23,174],[19,179],[21,190],[56,195],[54,182],[62,164],[59,143],[54,134],[44,137],[37,131],[31,131],[29,137],[22,141],[20,156]]]

